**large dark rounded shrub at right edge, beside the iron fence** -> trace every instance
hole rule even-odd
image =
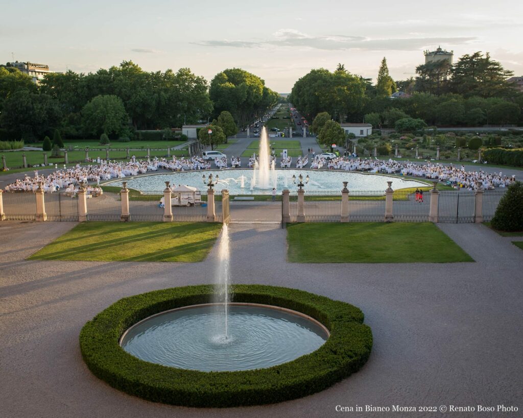
[[[500,231],[523,231],[523,182],[511,184],[499,201],[491,225]]]

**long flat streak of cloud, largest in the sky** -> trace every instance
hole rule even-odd
[[[363,51],[417,51],[438,44],[468,44],[476,37],[415,37],[369,39],[363,36],[326,35],[313,36],[295,29],[280,29],[273,34],[273,39],[252,41],[201,41],[198,45],[208,47],[264,48],[291,47],[317,49],[325,51],[363,50]]]

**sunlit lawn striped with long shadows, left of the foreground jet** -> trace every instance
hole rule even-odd
[[[214,223],[84,222],[29,260],[198,262],[220,230]]]

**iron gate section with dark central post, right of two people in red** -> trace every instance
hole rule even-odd
[[[465,224],[474,222],[475,192],[472,190],[443,190],[439,192],[439,222]]]

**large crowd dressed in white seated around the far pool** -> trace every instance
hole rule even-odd
[[[256,157],[249,159],[248,167],[253,168]],[[271,165],[274,157],[271,158]],[[283,158],[280,161],[282,168],[290,168],[291,157]],[[218,168],[228,168],[227,159],[217,159],[215,164]],[[231,158],[232,167],[240,167],[240,158]],[[303,168],[308,164],[308,157],[299,157],[297,168]],[[411,161],[379,160],[379,159],[361,159],[338,157],[330,160],[316,156],[312,161],[312,169],[323,167],[333,170],[346,171],[368,171],[372,173],[387,173],[402,176],[423,177],[429,180],[438,180],[452,185],[454,188],[466,188],[474,190],[476,182],[480,182],[484,189],[494,189],[496,187],[508,187],[515,182],[514,176],[504,176],[502,172],[487,173],[481,171],[467,171],[464,166],[457,167],[453,165],[442,165],[428,162],[428,164],[416,164]],[[56,170],[50,175],[38,175],[35,171],[34,177],[26,177],[22,180],[16,180],[5,187],[5,191],[36,191],[40,182],[43,183],[45,192],[54,192],[60,189],[66,189],[67,192],[75,194],[81,182],[96,183],[88,189],[88,195],[97,196],[102,193],[99,188],[100,180],[110,180],[113,178],[124,178],[128,176],[137,176],[150,171],[156,171],[162,168],[174,171],[186,170],[205,170],[210,169],[210,162],[200,157],[184,158],[172,157],[172,159],[154,158],[152,160],[135,160],[131,161],[105,161],[101,160],[96,165],[76,165],[75,167]]]

